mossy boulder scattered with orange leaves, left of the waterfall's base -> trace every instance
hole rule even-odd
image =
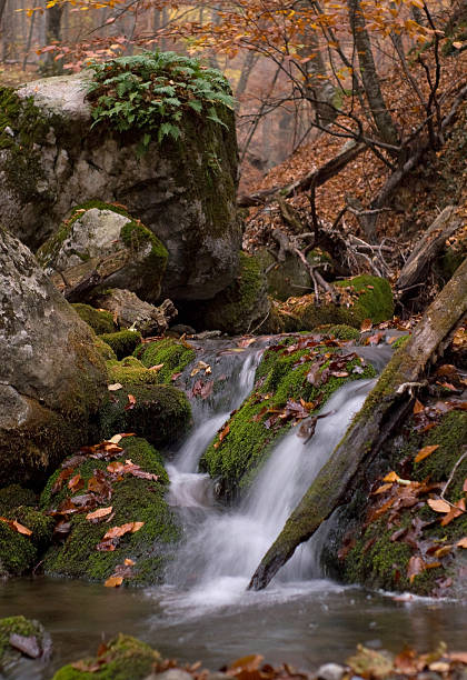
[[[123,438],[120,451],[117,449],[111,456],[98,456],[64,461],[66,467],[52,474],[42,492],[42,509],[59,510],[70,523],[64,540],[46,553],[44,571],[91,581],[120,573],[125,583],[161,582],[180,536],[177,516],[166,501],[169,478],[161,457],[137,437]],[[128,461],[139,466],[137,476],[128,471]],[[72,489],[70,478],[79,480]],[[74,502],[78,511],[73,510]],[[87,518],[100,508],[106,508],[107,514]],[[137,527],[131,526],[121,536],[116,532],[115,538],[106,541],[111,528],[133,522]]]

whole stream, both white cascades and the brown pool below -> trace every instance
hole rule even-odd
[[[364,352],[380,370],[389,348]],[[230,352],[211,342],[209,357],[203,357],[222,387],[193,400],[191,434],[171,452],[167,466],[169,501],[182,516],[186,540],[165,586],[113,590],[46,577],[0,584],[0,618],[37,618],[54,644],[47,669],[36,664],[23,674],[19,667],[13,678],[50,678],[64,662],[93,653],[101,636],[108,639],[120,631],[149,642],[163,657],[200,660],[212,670],[252,652],[270,663],[316,670],[326,661],[344,661],[358,642],[394,651],[408,643],[426,651],[444,640],[451,649],[464,649],[467,610],[461,603],[368,592],[327,580],[319,567],[326,523],[266,591],[246,590],[375,383],[359,380],[336,391],[322,409],[330,414],[318,420],[315,436],[304,444],[292,428],[239,506],[226,509],[216,501],[212,481],[197,472],[198,461],[251,391],[260,354],[259,349]]]

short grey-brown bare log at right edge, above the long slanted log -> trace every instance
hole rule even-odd
[[[456,206],[447,206],[414,248],[396,282],[400,293],[426,279],[427,267],[440,254],[446,240],[463,226],[456,210]]]

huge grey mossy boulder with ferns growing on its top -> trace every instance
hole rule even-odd
[[[74,206],[93,199],[120,202],[169,251],[163,296],[209,299],[232,281],[238,266],[235,118],[228,106],[209,102],[209,97],[190,106],[190,89],[183,96],[182,86],[197,88],[199,78],[205,79],[210,90],[216,86],[218,100],[226,101],[229,86],[219,72],[201,69],[188,58],[166,58],[160,74],[157,56],[125,59],[121,66],[118,60],[109,62],[109,74],[132,70],[130,80],[149,88],[167,80],[175,101],[185,97],[177,132],[172,126],[172,136],[158,139],[160,131],[168,130],[163,119],[136,131],[145,116],[149,119],[155,101],[163,106],[163,99],[170,98],[167,90],[160,98],[156,92],[146,100],[141,97],[129,127],[122,124],[118,107],[105,123],[96,124],[92,111],[99,100],[93,104],[86,100],[92,70],[38,80],[17,91],[2,88],[2,220],[37,249]],[[190,78],[197,82],[189,82]],[[128,92],[122,98],[127,104],[133,101]]]

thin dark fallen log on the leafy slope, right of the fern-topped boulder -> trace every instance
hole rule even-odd
[[[274,187],[272,189],[262,189],[260,191],[255,191],[254,193],[239,196],[237,199],[237,206],[239,206],[239,208],[264,206],[265,203],[276,200],[278,194],[285,199],[292,196],[296,191],[307,191],[310,189],[311,184],[315,184],[315,187],[320,187],[329,179],[335,177],[335,174],[340,172],[340,170],[342,170],[350,161],[360,156],[360,153],[362,153],[366,149],[368,149],[368,146],[362,142],[345,144],[337,156],[321,166],[321,168],[318,168],[318,170],[311,170],[301,179],[291,182],[291,184]]]

